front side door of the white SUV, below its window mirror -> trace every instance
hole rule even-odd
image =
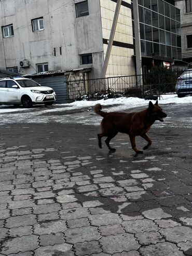
[[[16,85],[17,88],[12,88]],[[19,86],[13,80],[7,80],[6,85],[6,98],[8,103],[19,103],[20,101],[20,89]]]

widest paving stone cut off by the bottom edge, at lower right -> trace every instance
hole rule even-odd
[[[149,255],[158,255],[158,256],[165,256],[165,255],[174,255],[174,256],[182,256],[183,252],[178,250],[178,247],[170,242],[162,242],[156,245],[149,245],[146,247],[141,247],[140,251],[143,256]]]

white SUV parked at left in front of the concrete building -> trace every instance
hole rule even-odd
[[[50,87],[40,86],[29,78],[0,78],[0,104],[13,104],[29,108],[33,104],[52,105],[56,93]]]

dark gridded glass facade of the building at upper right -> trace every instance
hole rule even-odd
[[[142,56],[181,60],[180,10],[162,0],[138,4]]]

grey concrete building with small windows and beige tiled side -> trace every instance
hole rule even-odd
[[[1,0],[0,68],[21,74],[70,70],[98,78],[116,0]],[[134,71],[131,1],[118,17],[106,76]]]

